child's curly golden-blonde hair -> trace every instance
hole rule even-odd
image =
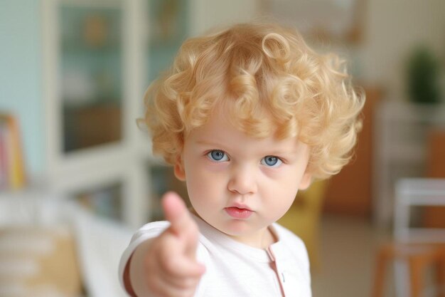
[[[294,29],[259,23],[189,38],[145,100],[153,151],[170,164],[187,133],[224,106],[247,135],[309,145],[308,170],[318,179],[350,160],[365,101],[338,56],[316,53]]]

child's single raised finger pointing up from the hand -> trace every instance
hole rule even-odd
[[[167,192],[162,197],[162,207],[166,219],[171,223],[170,231],[185,239],[186,254],[194,257],[198,246],[198,226],[183,199],[175,192]]]

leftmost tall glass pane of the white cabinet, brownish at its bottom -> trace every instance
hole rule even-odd
[[[123,110],[119,1],[60,1],[58,24],[63,152],[118,142]]]

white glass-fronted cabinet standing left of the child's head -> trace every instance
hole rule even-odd
[[[117,200],[108,202],[117,204],[116,216],[139,226],[149,217],[150,192],[150,146],[136,128],[144,113],[147,2],[42,4],[48,192],[89,196],[90,204]]]

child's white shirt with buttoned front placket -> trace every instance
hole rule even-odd
[[[271,231],[278,241],[264,250],[235,241],[202,219],[194,218],[200,230],[196,257],[205,265],[195,297],[311,297],[306,247],[291,231],[273,224]],[[124,268],[136,247],[168,226],[169,222],[153,222],[134,234],[119,264],[122,286]]]

